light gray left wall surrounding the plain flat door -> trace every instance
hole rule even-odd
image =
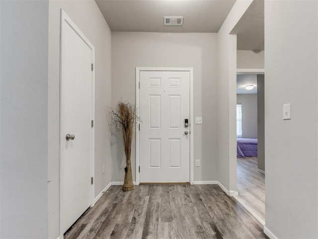
[[[95,47],[95,197],[111,182],[112,168],[106,112],[111,105],[111,31],[94,0],[50,0],[48,205],[52,239],[59,236],[60,8]]]

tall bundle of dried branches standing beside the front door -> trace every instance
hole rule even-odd
[[[132,105],[129,102],[119,101],[116,110],[108,108],[108,115],[111,119],[111,124],[114,125],[117,130],[122,130],[126,155],[123,191],[131,191],[134,189],[130,160],[131,142],[133,138],[134,126],[140,121],[138,117],[138,111],[135,105]]]

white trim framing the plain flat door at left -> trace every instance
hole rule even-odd
[[[85,37],[85,35],[80,31],[79,27],[77,27],[77,25],[72,21],[72,19],[66,14],[66,12],[61,8],[61,22],[60,22],[60,142],[59,142],[59,146],[60,146],[60,190],[59,190],[59,194],[60,194],[60,202],[59,202],[59,214],[60,214],[60,218],[59,218],[59,231],[60,231],[60,238],[64,237],[64,232],[62,230],[62,202],[63,202],[63,193],[62,193],[62,189],[63,189],[63,160],[64,160],[64,152],[62,150],[63,148],[63,142],[64,142],[64,134],[63,133],[63,122],[61,119],[63,119],[64,117],[64,105],[62,104],[64,102],[63,99],[63,62],[62,62],[62,50],[63,50],[63,23],[66,22],[67,24],[69,24],[70,27],[72,27],[74,29],[74,31],[76,31],[76,33],[79,35],[79,37],[86,43],[86,45],[92,50],[92,64],[94,66],[94,69],[92,71],[92,120],[94,120],[95,122],[95,47],[91,44],[91,42]],[[90,158],[90,175],[91,177],[94,177],[95,174],[95,127],[92,127],[92,133],[91,133],[91,158]],[[90,207],[94,206],[94,193],[95,193],[95,182],[91,185],[91,197],[90,197]]]

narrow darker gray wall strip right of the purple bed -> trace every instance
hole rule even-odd
[[[257,167],[265,171],[264,75],[257,75]]]

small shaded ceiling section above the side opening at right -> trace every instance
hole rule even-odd
[[[238,50],[264,50],[264,0],[253,0],[233,28],[237,34]]]

